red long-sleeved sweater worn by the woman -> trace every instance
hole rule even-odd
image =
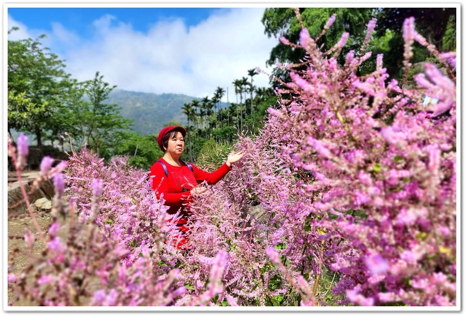
[[[197,184],[206,181],[209,185],[219,182],[231,168],[224,163],[213,172],[207,172],[196,167],[191,169],[180,162],[181,166],[173,166],[167,163],[162,157],[159,161],[164,162],[167,167],[168,177],[165,177],[164,167],[155,162],[149,170],[149,178],[152,179],[152,189],[158,199],[164,198],[165,205],[169,206],[169,214],[175,214],[181,209],[182,215],[188,215],[187,205],[191,200],[190,190]]]

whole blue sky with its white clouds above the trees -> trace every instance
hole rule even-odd
[[[222,87],[234,101],[232,81],[256,67],[271,73],[266,61],[278,43],[264,34],[262,7],[13,6],[20,4],[7,9],[7,27],[19,31],[8,39],[45,34],[41,43],[65,60],[73,78],[92,79],[99,71],[129,91],[202,98]],[[267,74],[256,75],[254,84],[267,87]]]

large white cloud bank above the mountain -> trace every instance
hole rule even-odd
[[[119,89],[193,97],[212,97],[222,87],[232,101],[232,81],[248,77],[248,70],[256,67],[272,71],[266,60],[277,40],[264,34],[263,12],[262,8],[220,9],[189,28],[181,19],[154,21],[145,34],[107,15],[94,21],[92,39],[80,39],[58,23],[48,36],[53,38],[51,44],[60,43],[60,58],[78,80],[92,79],[99,71]],[[269,86],[265,74],[253,80],[258,87]]]

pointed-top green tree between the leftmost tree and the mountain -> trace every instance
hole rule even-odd
[[[89,101],[76,109],[79,111],[76,117],[81,118],[80,130],[88,147],[99,156],[110,158],[117,132],[129,130],[132,120],[120,116],[118,105],[104,103],[116,86],[109,87],[109,83],[102,78],[96,72],[94,79],[84,83]]]

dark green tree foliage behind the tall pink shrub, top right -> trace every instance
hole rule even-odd
[[[367,22],[372,17],[376,17],[377,26],[372,42],[374,44],[381,43],[382,40],[388,41],[389,48],[382,50],[370,44],[369,50],[373,54],[360,66],[358,71],[361,71],[361,74],[374,71],[376,56],[378,53],[383,53],[384,67],[390,78],[400,77],[399,71],[403,61],[402,24],[404,19],[410,16],[415,18],[418,32],[438,49],[443,45],[445,49],[455,49],[456,8],[300,8],[299,12],[312,38],[318,37],[322,31],[325,31],[317,42],[320,47],[322,45],[322,51],[328,50],[331,44],[337,43],[344,32],[349,33],[347,44],[338,58],[341,65],[344,63],[344,56],[351,49],[357,51],[360,47],[365,39]],[[325,30],[324,26],[332,14],[336,15],[335,21],[331,28]],[[293,8],[268,8],[263,14],[262,22],[268,37],[284,37],[293,44],[298,43],[301,25]],[[413,63],[425,61],[428,57],[426,50],[420,46],[416,45],[413,49]],[[267,64],[297,64],[302,61],[303,56],[303,49],[280,43],[271,50]],[[286,70],[276,68],[273,74],[281,80],[290,81],[289,72]],[[274,87],[280,86],[278,82],[272,84]]]

